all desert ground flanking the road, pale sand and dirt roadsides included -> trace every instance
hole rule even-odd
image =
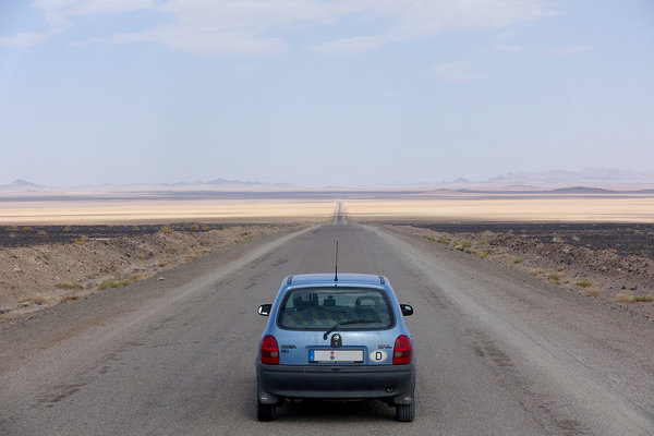
[[[654,316],[653,195],[324,192],[4,196],[0,317],[150,278],[253,238],[330,223],[337,214]]]

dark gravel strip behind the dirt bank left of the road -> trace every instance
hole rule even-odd
[[[52,243],[64,244],[83,238],[94,240],[136,237],[156,233],[165,227],[169,227],[174,231],[203,232],[220,230],[231,226],[235,225],[178,222],[156,226],[0,226],[0,249]],[[251,225],[240,222],[238,226],[247,227]]]

